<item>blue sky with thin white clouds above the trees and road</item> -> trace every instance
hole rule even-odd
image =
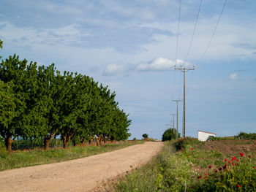
[[[200,1],[1,0],[0,55],[108,85],[132,120],[129,139],[162,139],[173,99],[183,99],[183,72],[174,68],[195,66],[186,73],[186,136],[255,132],[256,1]]]

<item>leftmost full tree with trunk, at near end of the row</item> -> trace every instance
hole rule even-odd
[[[26,93],[24,84],[26,81],[26,64],[27,61],[19,61],[18,56],[13,55],[0,64],[0,80],[2,95],[1,105],[4,110],[10,114],[10,118],[4,118],[4,112],[1,112],[1,137],[5,140],[5,146],[8,153],[12,151],[12,141],[23,134],[23,113],[26,110]],[[4,92],[6,91],[6,92]],[[4,104],[7,101],[7,105]],[[13,109],[10,109],[12,108]]]

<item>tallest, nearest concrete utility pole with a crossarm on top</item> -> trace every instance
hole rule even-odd
[[[195,66],[193,66],[193,68],[185,68],[185,67],[180,67],[180,68],[176,68],[175,69],[180,70],[181,72],[183,72],[183,138],[186,137],[186,72],[188,72],[189,70],[195,70]]]

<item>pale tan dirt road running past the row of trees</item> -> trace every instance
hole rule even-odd
[[[146,164],[162,146],[162,142],[146,142],[86,158],[3,171],[0,191],[92,191],[131,166]]]

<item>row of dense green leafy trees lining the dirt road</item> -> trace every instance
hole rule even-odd
[[[44,139],[45,149],[56,135],[64,147],[127,139],[131,120],[115,96],[92,77],[10,56],[0,64],[0,135],[9,153],[18,136]]]

